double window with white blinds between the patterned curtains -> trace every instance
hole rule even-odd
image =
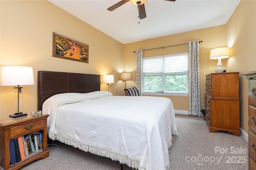
[[[143,92],[188,92],[188,53],[144,58]]]

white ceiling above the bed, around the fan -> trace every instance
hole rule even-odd
[[[226,24],[240,0],[148,0],[138,19],[131,2],[110,12],[120,0],[49,0],[123,44]]]

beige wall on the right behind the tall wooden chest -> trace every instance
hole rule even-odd
[[[240,72],[240,127],[248,134],[248,80],[242,74],[256,70],[256,1],[242,0],[226,25],[226,68]]]

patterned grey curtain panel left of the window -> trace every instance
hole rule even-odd
[[[136,51],[136,86],[140,96],[142,96],[142,59],[143,51]]]

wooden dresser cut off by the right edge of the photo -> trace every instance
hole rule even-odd
[[[244,73],[248,79],[248,161],[249,170],[256,169],[256,71]]]

